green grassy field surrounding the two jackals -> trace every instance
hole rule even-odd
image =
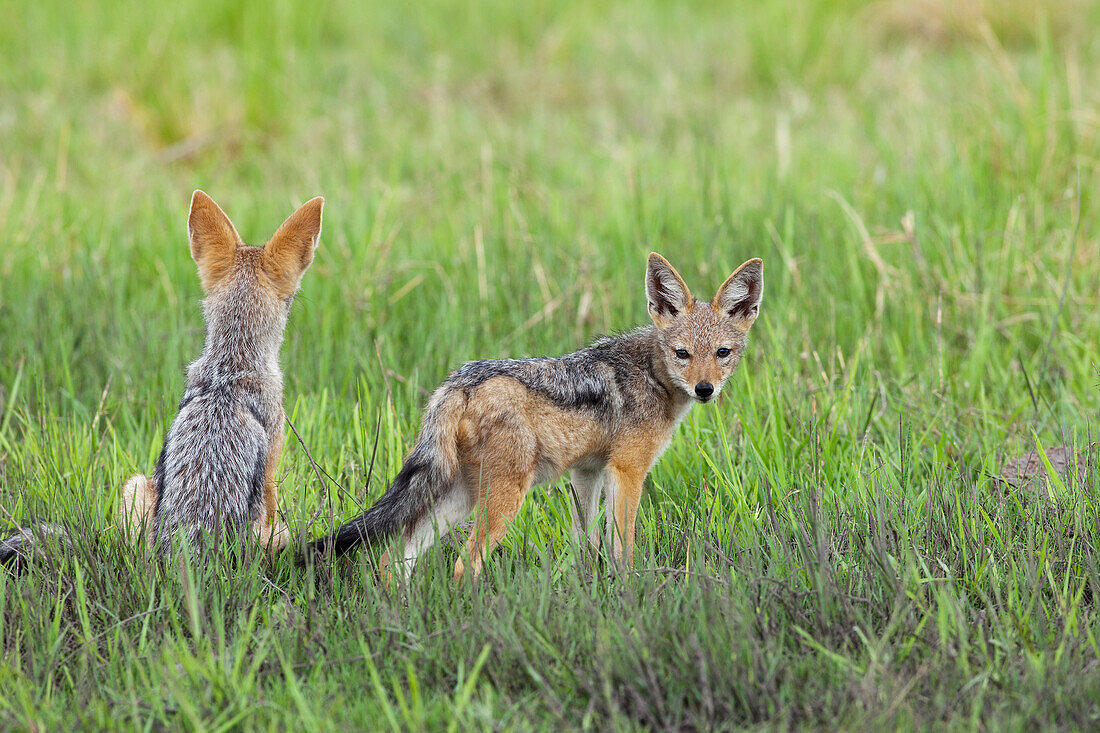
[[[1100,8],[0,0],[0,727],[1094,727]],[[202,342],[185,233],[326,196],[283,365],[282,511],[374,501],[474,358],[646,320],[646,254],[766,261],[634,572],[536,490],[455,551],[165,573],[122,546]],[[374,470],[367,481],[367,469]],[[323,481],[321,480],[323,479]]]

